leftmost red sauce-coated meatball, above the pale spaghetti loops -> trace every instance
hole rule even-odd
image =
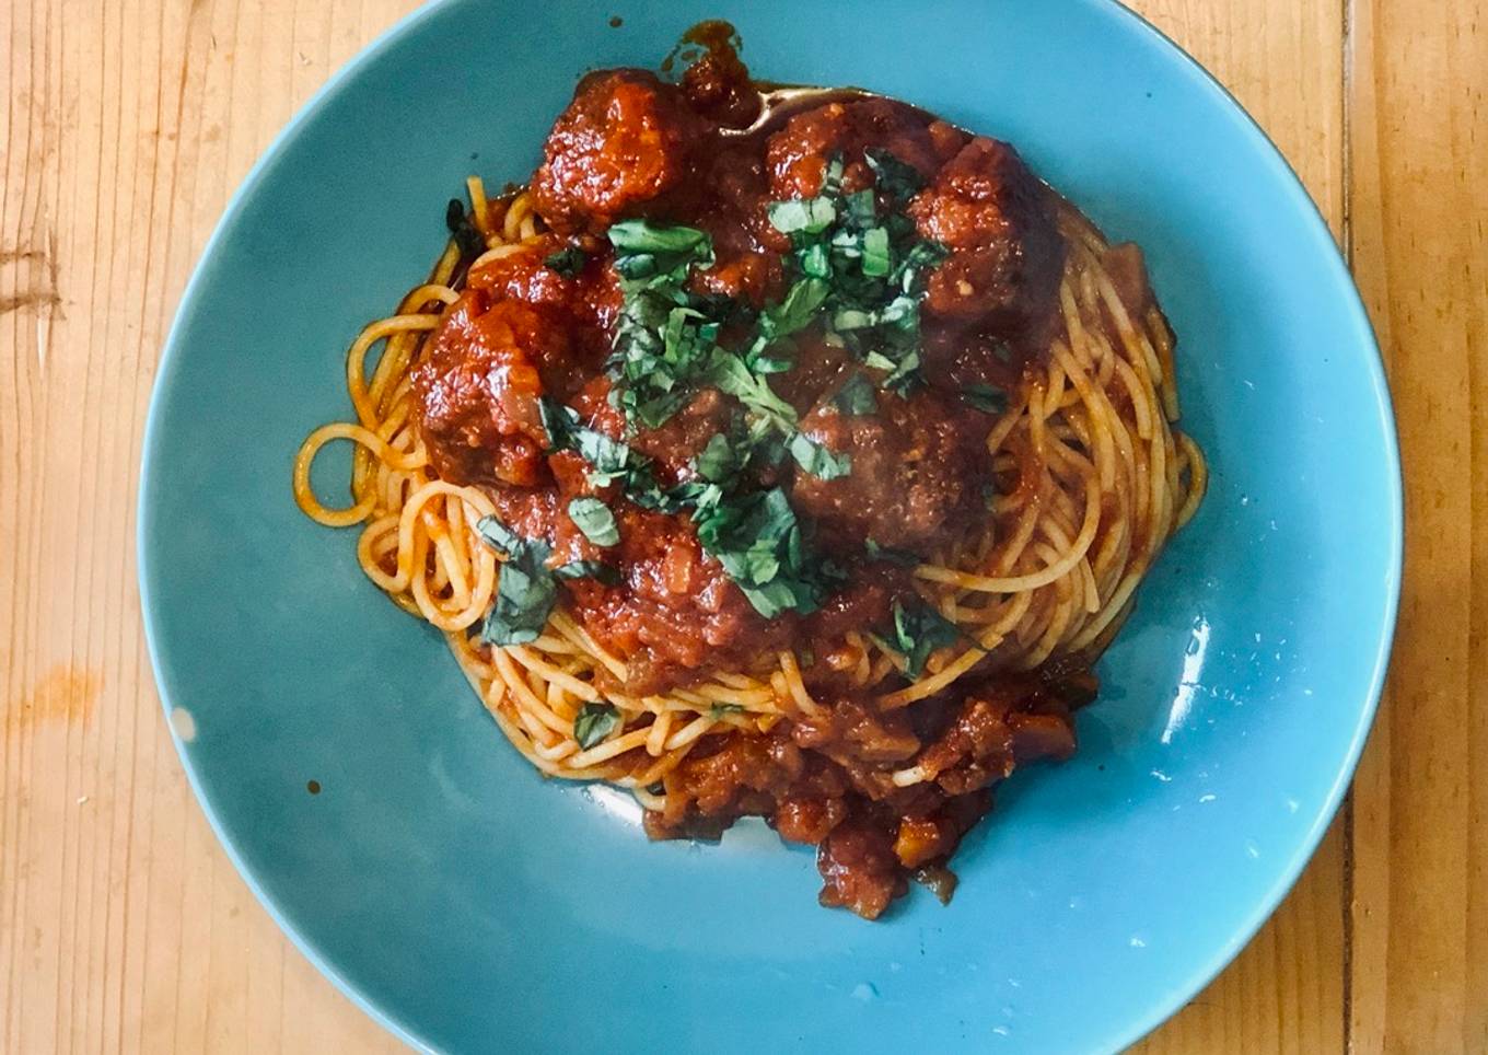
[[[522,301],[469,290],[429,336],[414,369],[418,424],[430,460],[454,484],[542,478],[546,443],[537,397],[545,373],[564,372],[565,329]]]

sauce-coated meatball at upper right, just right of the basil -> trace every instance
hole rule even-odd
[[[930,272],[926,310],[1010,342],[1046,338],[1064,241],[1051,192],[1007,143],[975,138],[915,196],[909,216],[951,250]]]

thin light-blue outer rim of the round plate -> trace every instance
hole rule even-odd
[[[150,388],[149,409],[146,412],[144,434],[140,446],[140,478],[135,493],[135,567],[137,585],[140,591],[141,623],[146,647],[150,656],[150,673],[155,679],[155,687],[161,699],[167,729],[171,735],[171,741],[176,747],[182,768],[186,772],[186,778],[190,784],[196,804],[205,814],[217,842],[226,851],[228,859],[232,862],[232,866],[247,884],[254,899],[257,899],[259,905],[263,906],[278,929],[289,936],[299,952],[305,955],[305,958],[310,960],[310,963],[321,975],[324,975],[344,995],[366,1012],[375,1022],[388,1030],[403,1043],[423,1052],[436,1052],[439,1049],[434,1048],[427,1039],[421,1037],[409,1024],[403,1022],[400,1018],[369,998],[356,982],[350,981],[336,967],[336,964],[320,952],[317,945],[299,930],[295,920],[281,909],[274,896],[263,888],[259,876],[244,862],[238,850],[235,835],[217,815],[216,805],[211,796],[205,792],[196,772],[196,766],[192,762],[187,743],[176,734],[171,725],[170,719],[174,705],[170,699],[164,679],[164,646],[161,644],[161,635],[164,631],[158,625],[161,618],[156,615],[155,606],[152,604],[150,582],[155,573],[153,561],[149,557],[147,536],[153,528],[155,515],[147,503],[147,497],[153,487],[155,473],[152,466],[161,457],[158,449],[161,429],[159,420],[162,417],[161,408],[167,402],[167,391],[173,387],[171,378],[176,372],[177,360],[183,356],[182,347],[186,320],[195,312],[196,302],[204,295],[202,289],[207,284],[207,274],[211,269],[210,265],[217,256],[222,243],[226,240],[228,229],[232,228],[238,214],[246,207],[250,192],[263,179],[268,167],[274,164],[286,146],[299,134],[301,128],[311,118],[314,118],[333,95],[345,91],[348,85],[382,52],[396,46],[402,37],[412,33],[423,22],[430,21],[445,7],[469,1],[470,0],[427,0],[427,3],[403,15],[390,27],[378,33],[350,60],[332,71],[324,83],[321,83],[310,95],[310,98],[299,106],[286,125],[269,140],[268,146],[263,147],[262,153],[259,153],[247,174],[237,185],[223,207],[222,216],[213,226],[211,235],[202,244],[201,253],[192,265],[190,278],[182,292],[171,326],[161,345],[161,354],[156,360],[155,381]],[[1198,995],[1199,991],[1213,982],[1231,964],[1231,961],[1235,960],[1235,957],[1251,942],[1260,927],[1265,926],[1265,923],[1275,914],[1287,893],[1290,893],[1290,890],[1296,885],[1302,870],[1312,860],[1318,844],[1332,826],[1333,818],[1342,805],[1344,795],[1353,783],[1359,759],[1363,753],[1370,729],[1373,728],[1373,720],[1379,708],[1379,698],[1384,692],[1384,683],[1390,667],[1390,655],[1399,621],[1402,573],[1405,562],[1405,496],[1399,432],[1390,393],[1388,373],[1385,369],[1384,354],[1379,348],[1378,335],[1375,333],[1369,311],[1364,307],[1363,298],[1354,281],[1354,275],[1344,256],[1344,250],[1335,241],[1326,217],[1312,195],[1308,192],[1306,185],[1302,183],[1296,168],[1290,161],[1287,161],[1286,155],[1275,144],[1271,135],[1265,131],[1265,128],[1262,128],[1256,118],[1250,115],[1240,100],[1181,45],[1158,28],[1146,16],[1132,10],[1120,0],[1064,1],[1083,6],[1092,10],[1097,16],[1115,16],[1126,21],[1135,28],[1138,36],[1146,37],[1149,45],[1158,52],[1164,54],[1168,60],[1176,60],[1177,67],[1183,71],[1187,83],[1193,89],[1202,91],[1216,98],[1222,107],[1232,110],[1242,119],[1242,126],[1257,138],[1257,146],[1263,147],[1260,155],[1265,159],[1265,164],[1277,173],[1281,186],[1284,186],[1290,195],[1301,196],[1301,199],[1306,204],[1303,214],[1308,217],[1306,226],[1311,228],[1309,234],[1320,238],[1320,241],[1326,244],[1326,248],[1320,254],[1320,262],[1326,266],[1329,277],[1339,283],[1344,292],[1342,304],[1339,307],[1347,315],[1350,315],[1350,321],[1357,330],[1354,338],[1362,341],[1364,351],[1373,353],[1372,356],[1366,354],[1363,357],[1363,366],[1369,375],[1373,390],[1375,409],[1378,411],[1382,426],[1381,439],[1384,440],[1385,454],[1385,479],[1382,481],[1387,491],[1385,512],[1388,515],[1387,522],[1382,525],[1388,549],[1388,562],[1384,568],[1385,606],[1381,612],[1382,625],[1378,647],[1375,655],[1367,658],[1369,686],[1362,701],[1363,705],[1359,708],[1359,720],[1350,732],[1344,763],[1339,766],[1338,774],[1327,790],[1321,809],[1317,811],[1312,824],[1295,844],[1295,850],[1286,866],[1278,870],[1277,879],[1266,888],[1265,894],[1256,899],[1250,911],[1242,915],[1231,937],[1219,945],[1207,960],[1202,960],[1199,966],[1192,969],[1181,985],[1174,987],[1168,994],[1165,994],[1164,998],[1149,1004],[1144,1013],[1128,1019],[1123,1025],[1112,1025],[1113,1033],[1110,1034],[1112,1045],[1109,1051],[1122,1051],[1173,1018],[1173,1015]]]

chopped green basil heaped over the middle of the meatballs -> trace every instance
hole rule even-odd
[[[817,609],[842,577],[811,552],[784,491],[759,490],[751,472],[763,469],[771,479],[768,467],[781,464],[787,452],[802,472],[821,479],[851,472],[848,454],[802,434],[796,409],[771,388],[772,373],[795,366],[796,335],[820,326],[823,341],[876,371],[851,373],[832,396],[841,414],[876,409],[875,378],[900,394],[923,384],[920,302],[926,272],[946,250],[923,240],[902,210],[920,186],[918,173],[884,152],[872,153],[868,164],[876,190],[844,193],[844,162],[835,156],[815,196],[768,207],[771,225],[790,237],[792,250],[786,293],[762,310],[689,287],[695,271],[716,262],[705,231],[641,219],[610,226],[623,305],[607,368],[610,402],[623,412],[626,429],[659,427],[702,385],[743,408],[696,454],[695,479],[662,488],[652,463],[625,439],[589,429],[573,409],[542,400],[552,449],[576,451],[589,464],[594,487],[615,487],[643,509],[690,512],[704,551],[766,618]],[[549,266],[576,269],[583,259],[549,259]],[[600,498],[576,498],[568,513],[591,542],[618,542],[615,515]],[[554,571],[549,580],[582,574],[573,567]]]

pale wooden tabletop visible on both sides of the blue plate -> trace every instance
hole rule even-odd
[[[412,6],[0,0],[0,1052],[399,1049],[278,933],[186,787],[134,496],[161,341],[226,196]],[[1141,1051],[1488,1052],[1488,0],[1137,6],[1271,132],[1350,254],[1409,521],[1350,804]]]

